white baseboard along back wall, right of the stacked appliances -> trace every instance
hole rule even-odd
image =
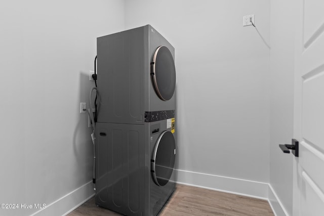
[[[176,169],[178,184],[207,188],[231,194],[248,196],[258,199],[268,199],[268,183],[224,176],[204,174],[201,172]]]

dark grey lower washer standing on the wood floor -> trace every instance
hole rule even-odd
[[[175,190],[176,131],[167,122],[97,123],[97,205],[126,215],[157,215],[163,208]]]

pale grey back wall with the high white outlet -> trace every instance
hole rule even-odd
[[[175,47],[178,169],[269,182],[269,9],[269,0],[125,1],[126,29],[151,24]],[[242,26],[249,14],[259,33]]]

